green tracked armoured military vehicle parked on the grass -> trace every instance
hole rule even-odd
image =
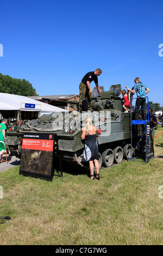
[[[93,89],[91,111],[86,111],[84,102],[79,106],[78,102],[73,101],[74,112],[44,114],[36,120],[24,120],[23,125],[12,125],[5,142],[11,154],[21,159],[23,135],[28,132],[57,133],[61,162],[74,167],[87,167],[82,162],[84,144],[81,135],[85,119],[89,116],[98,129],[99,166],[110,167],[114,162],[129,159],[130,114],[123,112],[121,84],[111,86],[109,91],[104,91],[103,87],[100,89],[101,95],[98,95],[96,87]],[[80,111],[79,107],[82,107]]]

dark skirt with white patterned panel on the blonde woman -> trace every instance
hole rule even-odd
[[[83,162],[88,162],[88,161],[93,161],[95,159],[99,160],[96,134],[87,135],[85,137],[84,152],[83,152],[82,161]]]

